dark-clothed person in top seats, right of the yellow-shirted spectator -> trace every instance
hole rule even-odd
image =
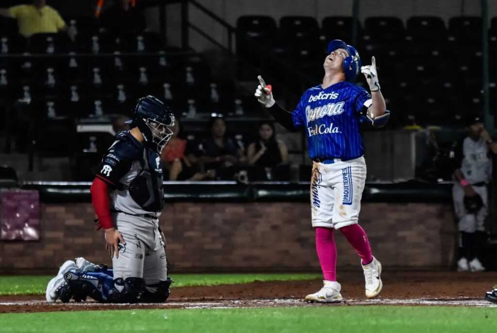
[[[111,34],[128,34],[145,29],[143,12],[130,5],[129,0],[114,0],[100,16],[101,25]]]

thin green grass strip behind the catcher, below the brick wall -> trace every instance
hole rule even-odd
[[[44,295],[53,276],[0,276],[0,295]],[[250,283],[253,281],[307,280],[322,278],[321,274],[171,274],[173,287],[214,286]]]

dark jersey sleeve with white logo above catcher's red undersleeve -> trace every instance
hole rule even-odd
[[[105,181],[112,187],[119,186],[119,180],[129,172],[133,161],[140,158],[134,147],[123,141],[117,141],[105,153],[95,177]]]

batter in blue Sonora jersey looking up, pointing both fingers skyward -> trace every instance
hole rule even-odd
[[[357,224],[366,180],[364,145],[359,123],[384,126],[390,112],[380,90],[375,58],[361,67],[359,53],[341,40],[328,45],[323,83],[308,89],[294,111],[279,106],[259,76],[255,96],[273,117],[290,131],[304,130],[313,160],[311,180],[312,225],[316,228],[316,250],[324,275],[324,286],[306,296],[308,302],[340,302],[336,281],[334,230],[340,230],[361,257],[368,298],[377,296],[383,283],[381,264],[372,255],[368,238]],[[359,71],[366,77],[368,93],[353,81]]]

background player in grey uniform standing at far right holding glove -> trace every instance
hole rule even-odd
[[[458,271],[483,271],[479,260],[489,211],[488,185],[492,179],[492,156],[497,143],[490,137],[481,118],[465,119],[468,136],[453,154],[455,183],[452,188],[454,210],[459,219],[461,258]]]

